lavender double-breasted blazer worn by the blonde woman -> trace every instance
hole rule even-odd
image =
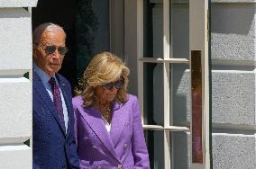
[[[123,104],[114,102],[110,134],[100,112],[82,104],[81,96],[73,98],[81,169],[150,168],[136,96],[129,94],[128,101]]]

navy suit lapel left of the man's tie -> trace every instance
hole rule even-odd
[[[39,76],[36,74],[35,71],[33,71],[33,88],[35,89],[35,91],[37,91],[37,93],[39,93],[43,102],[46,103],[51,114],[54,116],[55,120],[57,120],[57,122],[59,124],[59,128],[62,130],[63,134],[65,135],[65,129],[62,127],[62,125],[60,123],[57,110],[55,109],[55,106],[50,99],[50,95],[47,93],[45,87],[43,86],[43,84],[41,82],[41,79],[39,78]]]

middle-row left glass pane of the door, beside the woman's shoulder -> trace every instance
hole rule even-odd
[[[144,123],[163,126],[162,64],[144,63]]]

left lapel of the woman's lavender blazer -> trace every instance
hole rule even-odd
[[[105,148],[108,149],[109,152],[116,158],[114,146],[111,143],[109,135],[107,134],[104,121],[101,119],[100,112],[96,108],[83,108],[82,106],[78,107],[78,110],[80,112],[84,112],[81,113],[84,120],[87,121],[87,124],[95,132],[97,138],[99,138],[103,145],[105,145]]]

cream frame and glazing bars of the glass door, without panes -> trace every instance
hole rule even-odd
[[[142,125],[144,129],[152,130],[163,130],[164,131],[164,166],[165,169],[171,167],[170,164],[170,144],[169,144],[169,132],[170,131],[189,131],[192,133],[192,122],[190,122],[190,129],[185,127],[169,126],[169,63],[184,63],[190,62],[186,59],[171,59],[169,58],[169,1],[163,0],[163,60],[168,59],[169,61],[163,61],[163,67],[166,71],[163,76],[164,84],[164,126],[145,125],[143,120],[143,0],[137,0],[136,3],[136,14],[137,21],[137,40],[130,41],[130,43],[136,43],[136,57],[137,57],[137,87],[138,96],[141,104],[142,111]],[[134,3],[133,1],[131,3]],[[125,10],[125,7],[124,7]],[[135,10],[135,9],[133,9]],[[135,13],[133,11],[133,13]],[[125,16],[127,18],[127,16]],[[126,21],[124,21],[126,22]],[[125,30],[125,27],[124,27]],[[125,32],[124,32],[125,34]],[[129,37],[129,34],[126,35]],[[209,169],[210,168],[210,145],[209,145],[209,10],[208,0],[197,0],[189,1],[189,53],[192,50],[201,51],[201,67],[202,67],[202,151],[203,151],[203,162],[202,163],[191,163],[192,169]],[[124,44],[125,48],[125,44]],[[191,56],[189,58],[191,60]],[[149,61],[149,60],[148,60]],[[153,61],[152,61],[153,62]],[[192,82],[191,82],[192,83]],[[192,94],[191,94],[192,95]],[[192,108],[192,106],[191,106]],[[191,109],[192,110],[192,109]],[[190,135],[191,136],[191,135]],[[192,152],[192,137],[190,137],[190,152]],[[190,153],[192,156],[192,153]],[[192,162],[192,159],[190,160]]]

